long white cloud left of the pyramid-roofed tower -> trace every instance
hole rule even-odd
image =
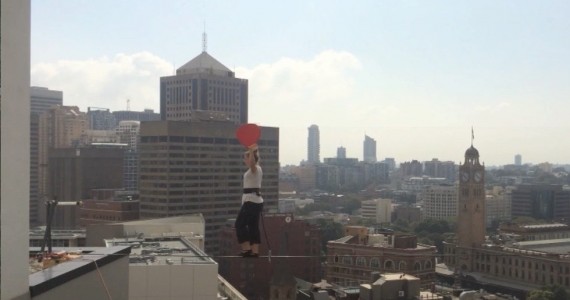
[[[64,105],[158,111],[159,78],[172,74],[172,65],[149,52],[117,54],[111,58],[59,60],[32,66],[31,82],[63,91]]]

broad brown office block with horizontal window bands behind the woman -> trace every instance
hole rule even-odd
[[[237,127],[229,121],[141,122],[141,218],[201,213],[206,220],[206,251],[218,253],[218,230],[237,216],[247,169],[245,148],[235,138]],[[261,127],[258,144],[264,209],[276,211],[279,129]]]

